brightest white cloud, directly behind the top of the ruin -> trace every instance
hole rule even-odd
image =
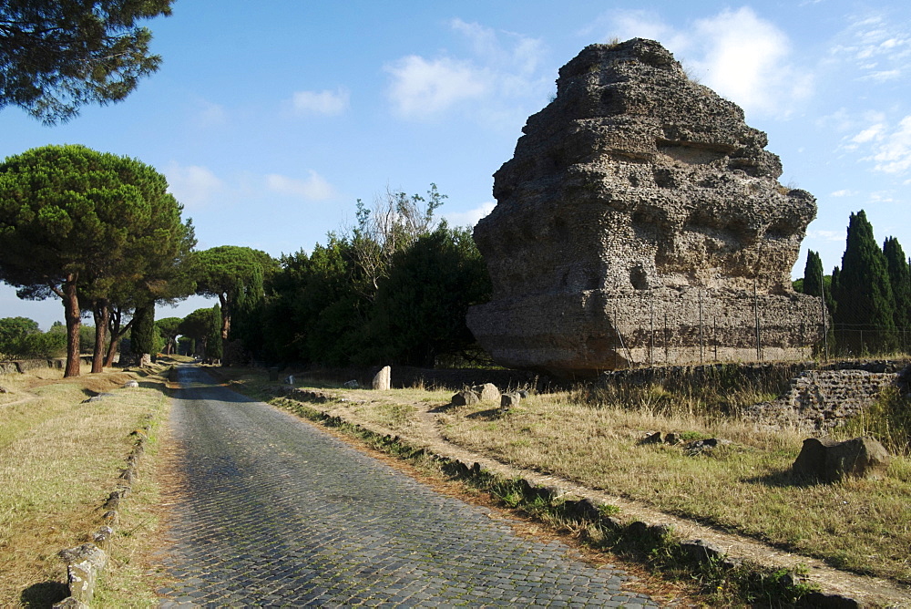
[[[647,11],[612,12],[608,23],[606,39],[660,40],[701,82],[748,113],[787,115],[813,92],[813,74],[793,65],[788,37],[751,8],[724,10],[686,30]]]

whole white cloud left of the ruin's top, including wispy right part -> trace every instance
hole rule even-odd
[[[525,117],[527,104],[543,101],[552,75],[537,73],[544,57],[540,40],[461,19],[449,25],[465,39],[469,57],[448,52],[435,58],[411,55],[384,67],[390,75],[388,97],[398,116],[429,119],[483,101],[471,106],[473,116],[496,123],[503,117],[511,120],[516,104],[526,104],[519,112]]]

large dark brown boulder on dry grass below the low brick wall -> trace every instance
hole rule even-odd
[[[872,438],[804,440],[792,471],[798,478],[836,482],[846,476],[881,480],[885,478],[892,456]]]

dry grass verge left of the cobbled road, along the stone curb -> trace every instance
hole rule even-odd
[[[84,370],[87,372],[87,370]],[[0,377],[10,402],[0,406],[0,606],[48,606],[66,594],[64,564],[56,552],[89,541],[100,525],[98,510],[112,490],[132,447],[129,432],[148,414],[160,420],[167,400],[152,379],[138,389],[118,389],[130,375],[105,373],[63,379],[62,371],[40,369]],[[89,395],[116,397],[82,404]],[[154,460],[154,449],[150,450]],[[145,466],[144,466],[145,467]],[[125,534],[147,518],[154,486],[138,483],[121,512],[118,535],[100,584],[104,606],[152,604],[135,581],[138,551]],[[154,522],[148,522],[154,525]],[[110,589],[121,589],[111,593]]]

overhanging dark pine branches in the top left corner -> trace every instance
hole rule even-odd
[[[46,124],[88,103],[126,98],[159,68],[151,33],[136,23],[170,15],[173,0],[6,0],[0,4],[0,108]]]

